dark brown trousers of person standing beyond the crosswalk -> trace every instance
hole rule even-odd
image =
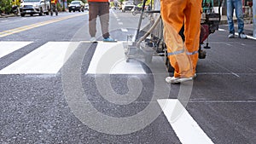
[[[102,37],[109,37],[109,3],[90,2],[89,3],[89,33],[90,37],[96,36],[96,18],[99,15],[102,26]]]

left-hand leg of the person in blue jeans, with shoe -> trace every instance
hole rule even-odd
[[[235,37],[235,29],[234,29],[234,21],[233,21],[233,14],[234,14],[235,5],[233,0],[227,0],[227,18],[229,24],[229,38]]]

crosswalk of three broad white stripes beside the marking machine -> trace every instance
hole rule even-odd
[[[19,50],[32,42],[0,42],[0,58]],[[55,74],[68,60],[79,43],[88,42],[48,42],[31,53],[21,57],[0,70],[0,74]],[[112,65],[112,66],[107,66]],[[122,42],[97,44],[90,61],[88,74],[144,74],[138,62],[125,62]]]

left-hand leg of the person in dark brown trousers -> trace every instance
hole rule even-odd
[[[96,18],[99,11],[98,3],[89,3],[89,33],[90,37],[96,36]]]

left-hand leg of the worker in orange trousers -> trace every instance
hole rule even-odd
[[[183,26],[183,9],[187,0],[175,0],[172,2],[170,0],[161,0],[160,3],[161,16],[164,23],[164,37],[168,58],[174,68],[174,77],[187,78],[187,73],[191,71],[191,66],[188,65],[189,58],[185,53],[183,39],[178,34]]]

